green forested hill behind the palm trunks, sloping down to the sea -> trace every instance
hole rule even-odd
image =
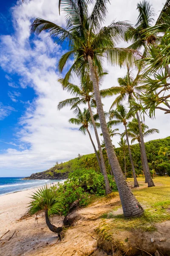
[[[159,175],[170,175],[170,136],[164,139],[151,140],[145,143],[147,159],[150,170],[154,170]],[[115,148],[119,163],[124,169],[124,157],[121,148]],[[138,144],[131,145],[132,156],[135,164],[136,174],[142,174],[142,163],[140,157],[140,149]],[[107,154],[103,149],[105,164],[108,173],[110,172],[110,165],[108,163]],[[132,176],[130,159],[128,155],[128,148],[126,149],[126,165],[127,177]],[[73,172],[80,168],[91,168],[99,171],[99,166],[95,154],[78,155],[78,157],[69,160],[65,163],[57,163],[52,168],[44,172],[37,172],[32,174],[27,179],[66,179],[69,172]]]

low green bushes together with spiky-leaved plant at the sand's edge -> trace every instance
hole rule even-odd
[[[112,191],[117,191],[113,177],[108,175]],[[69,179],[58,186],[45,186],[38,189],[31,196],[29,214],[33,215],[41,210],[48,210],[48,214],[66,215],[71,204],[79,200],[80,206],[85,206],[91,201],[91,195],[105,195],[105,181],[101,172],[94,169],[77,169],[71,172]]]

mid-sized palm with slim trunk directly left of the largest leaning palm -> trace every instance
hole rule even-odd
[[[104,74],[106,74],[106,73],[104,73]],[[104,74],[102,74],[102,76]],[[102,77],[99,77],[99,82],[101,81],[101,79],[102,79]],[[65,99],[64,101],[59,102],[58,109],[61,109],[64,106],[68,106],[68,105],[71,105],[71,109],[74,109],[80,104],[88,103],[88,110],[91,115],[91,121],[92,121],[92,124],[94,127],[96,141],[97,141],[97,145],[98,145],[98,149],[99,149],[100,166],[102,168],[102,172],[106,173],[105,160],[104,160],[104,157],[102,154],[102,148],[100,145],[99,135],[97,132],[96,123],[95,123],[94,115],[93,115],[92,108],[91,108],[91,105],[92,106],[96,105],[96,101],[94,99],[93,84],[92,84],[89,74],[87,73],[84,76],[83,81],[79,86],[77,86],[75,84],[71,84],[70,82],[68,82],[67,85],[64,85],[64,79],[59,79],[58,81],[62,84],[63,89],[67,90],[68,92],[70,92],[71,94],[73,94],[75,96],[74,98]],[[110,94],[111,94],[110,89],[100,90],[100,95],[102,98],[110,96]]]

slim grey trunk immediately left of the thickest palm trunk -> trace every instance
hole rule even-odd
[[[104,177],[104,180],[105,180],[105,191],[106,191],[106,195],[108,195],[112,192],[112,190],[111,190],[111,187],[110,187],[110,184],[109,184],[108,175],[107,175],[107,172],[106,172],[105,160],[104,160],[103,153],[102,153],[102,148],[101,148],[101,145],[100,145],[99,135],[97,133],[96,124],[95,124],[95,121],[94,121],[94,117],[93,117],[93,113],[92,113],[91,105],[90,105],[89,101],[88,101],[88,109],[89,109],[89,112],[90,112],[90,115],[91,115],[91,121],[92,121],[92,124],[93,124],[93,127],[94,127],[94,133],[95,133],[96,140],[97,140],[97,145],[98,145],[98,148],[99,148],[99,154],[100,154],[101,165],[102,165],[102,174],[103,174],[103,177]]]

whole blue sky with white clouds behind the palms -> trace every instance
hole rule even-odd
[[[116,20],[136,22],[137,0],[111,1],[106,24]],[[165,0],[152,1],[159,15]],[[115,16],[116,14],[116,16]],[[26,176],[50,168],[56,161],[65,161],[80,154],[93,152],[90,140],[74,125],[69,108],[57,111],[59,101],[70,97],[57,79],[57,62],[65,52],[47,34],[30,35],[36,17],[65,26],[65,17],[58,15],[56,0],[7,0],[0,6],[0,177]],[[123,45],[123,44],[122,44]],[[125,69],[109,67],[103,88],[117,85]],[[75,81],[77,82],[77,81]],[[104,101],[105,111],[113,99]],[[147,140],[169,136],[170,122],[157,112],[156,120],[146,120],[160,134]],[[120,131],[123,128],[119,127]],[[93,131],[91,131],[94,137]],[[113,144],[119,142],[116,137]]]

